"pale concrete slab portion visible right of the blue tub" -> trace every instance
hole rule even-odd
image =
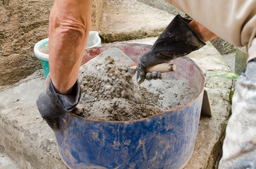
[[[224,58],[212,44],[189,54],[204,73],[230,72]],[[221,158],[221,146],[226,129],[226,120],[231,113],[228,94],[231,91],[232,80],[223,77],[210,77],[206,84],[212,105],[212,118],[201,115],[199,131],[193,158],[186,168],[217,168]]]

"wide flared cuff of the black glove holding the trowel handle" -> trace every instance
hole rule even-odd
[[[200,35],[188,25],[190,21],[176,15],[150,49],[150,55],[168,61],[205,46]]]

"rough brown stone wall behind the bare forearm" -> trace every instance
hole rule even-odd
[[[103,1],[93,1],[91,30],[98,30]],[[42,68],[33,48],[48,37],[53,4],[54,0],[0,0],[0,86]]]

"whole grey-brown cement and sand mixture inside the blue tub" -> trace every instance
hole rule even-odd
[[[81,66],[82,94],[73,113],[90,120],[139,120],[187,104],[198,95],[183,79],[151,80],[139,86],[133,64],[123,51],[111,48]]]

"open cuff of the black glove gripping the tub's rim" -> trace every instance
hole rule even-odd
[[[47,95],[52,101],[55,101],[58,106],[63,108],[65,111],[72,111],[78,102],[80,101],[81,88],[78,80],[72,87],[71,94],[63,95],[55,91],[52,81],[49,82],[49,87],[47,88]]]

